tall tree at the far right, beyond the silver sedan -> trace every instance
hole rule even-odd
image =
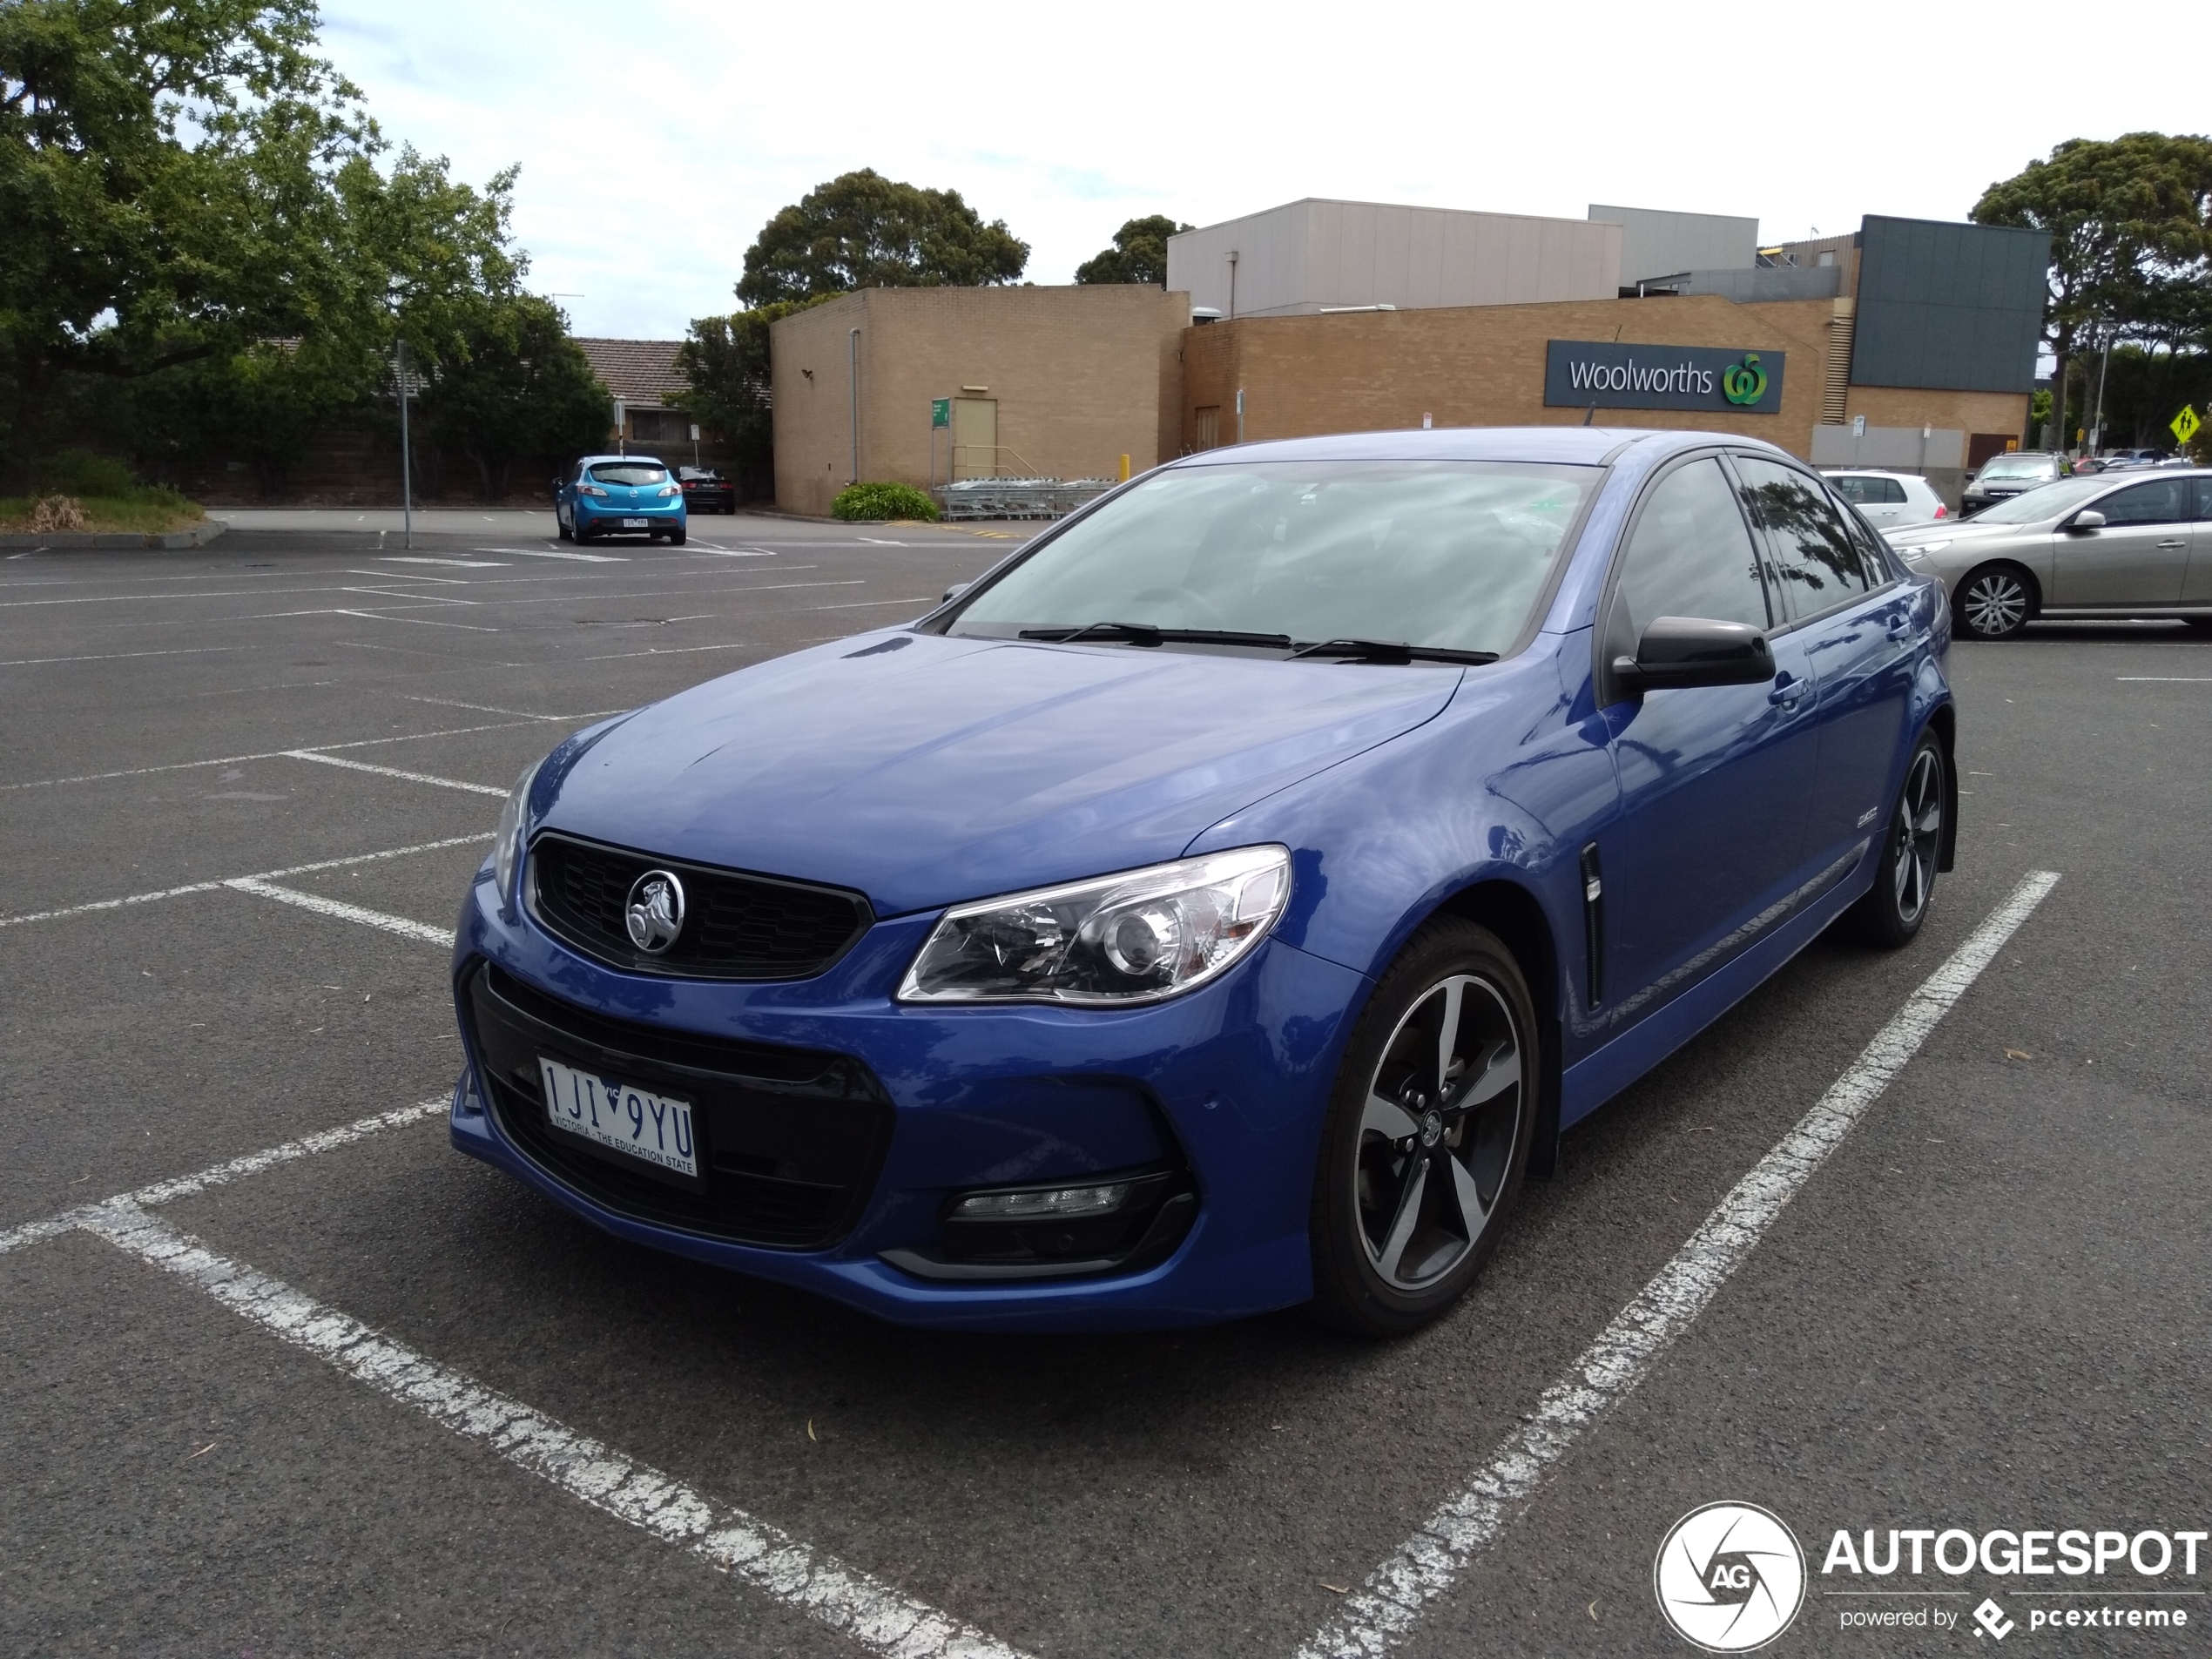
[[[2128,133],[2066,139],[2046,161],[1982,192],[1986,226],[2051,232],[2044,341],[2055,358],[2055,429],[2066,420],[2066,369],[2101,330],[2128,334],[2188,312],[2212,270],[2212,139]]]

